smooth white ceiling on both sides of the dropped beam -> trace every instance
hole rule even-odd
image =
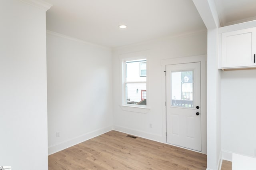
[[[206,30],[192,0],[44,1],[47,30],[106,47]],[[256,19],[256,0],[214,1],[222,26]]]

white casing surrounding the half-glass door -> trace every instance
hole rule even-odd
[[[202,151],[201,153],[206,154],[207,146],[206,146],[206,137],[207,137],[207,126],[206,126],[206,119],[207,119],[207,109],[206,109],[206,65],[207,65],[207,56],[206,55],[195,55],[190,57],[179,57],[179,58],[172,58],[172,59],[164,59],[161,61],[162,65],[162,141],[167,144],[166,142],[166,65],[172,64],[183,64],[183,63],[195,63],[201,62],[201,144],[202,144]],[[187,148],[185,148],[187,149]]]

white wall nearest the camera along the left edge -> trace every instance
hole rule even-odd
[[[0,166],[46,170],[45,10],[1,0],[0,23]]]

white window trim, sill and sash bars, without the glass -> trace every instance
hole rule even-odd
[[[131,57],[131,55],[133,54],[129,54],[121,56],[121,62],[122,62],[122,88],[121,88],[121,104],[120,107],[122,108],[122,110],[124,111],[131,111],[131,112],[137,112],[137,113],[148,113],[148,111],[150,111],[150,95],[149,95],[149,71],[148,71],[148,59],[145,55],[140,55],[140,57]],[[146,90],[147,90],[147,105],[136,105],[134,106],[133,104],[127,104],[126,103],[126,61],[133,61],[133,60],[142,60],[145,59],[146,60],[146,81],[136,81],[136,82],[128,82],[128,83],[146,83]]]

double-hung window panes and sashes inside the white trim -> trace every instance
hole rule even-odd
[[[145,107],[146,99],[146,59],[124,61],[124,105]]]

